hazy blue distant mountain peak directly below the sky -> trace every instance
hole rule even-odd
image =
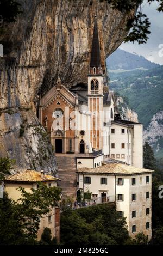
[[[106,59],[108,70],[154,69],[160,65],[149,62],[145,57],[117,49]]]

